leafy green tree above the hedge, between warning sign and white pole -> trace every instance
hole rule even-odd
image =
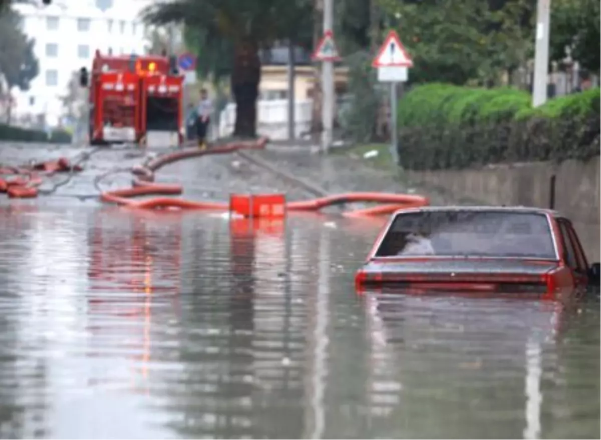
[[[532,53],[534,0],[380,2],[413,56],[410,82],[499,84]]]

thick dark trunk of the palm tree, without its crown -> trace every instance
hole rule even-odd
[[[257,98],[261,81],[261,60],[258,45],[240,41],[234,49],[231,90],[236,101],[234,136],[257,136]]]

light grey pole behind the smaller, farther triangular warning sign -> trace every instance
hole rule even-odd
[[[334,25],[334,0],[323,0],[323,33],[332,31]],[[332,146],[334,125],[334,61],[324,61],[322,67],[322,151],[328,153]]]

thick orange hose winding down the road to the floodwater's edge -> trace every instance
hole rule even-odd
[[[171,154],[165,154],[151,160],[149,163],[133,167],[134,175],[132,188],[105,191],[100,194],[103,202],[115,203],[135,209],[203,209],[214,211],[229,211],[228,203],[220,202],[200,202],[193,200],[175,199],[171,197],[155,197],[142,201],[132,200],[130,197],[136,196],[168,196],[182,194],[182,185],[160,184],[154,182],[154,176],[157,170],[166,164],[173,163],[191,157],[199,157],[206,154],[229,154],[239,149],[263,149],[267,144],[267,139],[262,138],[258,142],[233,142],[224,146],[218,146],[209,150],[186,149]],[[389,194],[389,193],[347,193],[335,194],[334,196],[319,197],[313,200],[301,202],[288,202],[286,209],[288,211],[319,211],[326,206],[341,205],[343,203],[353,202],[377,202],[386,203],[385,205],[373,206],[365,209],[346,212],[348,217],[374,217],[378,215],[391,214],[397,209],[426,206],[429,200],[426,197],[409,194]]]

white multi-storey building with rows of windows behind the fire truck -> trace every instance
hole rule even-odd
[[[105,8],[99,7],[101,3]],[[46,125],[56,127],[64,113],[61,97],[67,94],[73,73],[81,67],[89,70],[96,50],[115,55],[147,52],[139,19],[147,2],[118,0],[109,8],[106,4],[106,0],[55,0],[47,7],[15,5],[23,16],[23,32],[35,39],[40,65],[29,91],[13,91],[17,118],[44,115]]]

